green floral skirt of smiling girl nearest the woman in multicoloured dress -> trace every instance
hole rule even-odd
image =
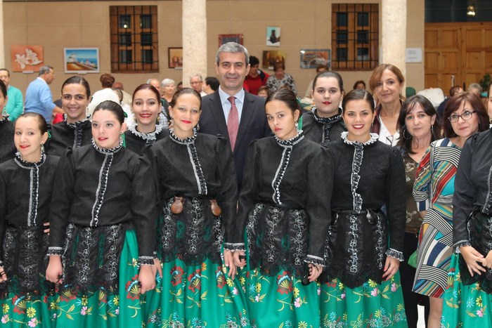
[[[337,278],[322,284],[320,327],[407,327],[400,272],[354,289]]]

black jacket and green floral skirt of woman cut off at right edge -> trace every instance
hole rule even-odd
[[[462,150],[453,197],[453,247],[441,327],[492,327],[492,269],[468,273],[460,247],[492,250],[492,130],[471,136]],[[470,215],[471,214],[471,215]]]

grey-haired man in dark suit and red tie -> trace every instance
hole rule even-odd
[[[239,188],[248,146],[252,140],[271,136],[264,98],[242,88],[250,72],[249,60],[240,44],[228,42],[219,48],[215,58],[219,90],[202,98],[200,114],[201,133],[221,134],[231,143]]]

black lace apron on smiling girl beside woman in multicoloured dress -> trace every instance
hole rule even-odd
[[[367,280],[382,281],[388,245],[387,218],[382,211],[333,211],[331,237],[325,251],[327,270],[321,282],[337,277],[349,288]]]

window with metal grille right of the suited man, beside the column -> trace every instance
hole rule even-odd
[[[378,4],[332,4],[333,70],[373,70],[378,47]]]

